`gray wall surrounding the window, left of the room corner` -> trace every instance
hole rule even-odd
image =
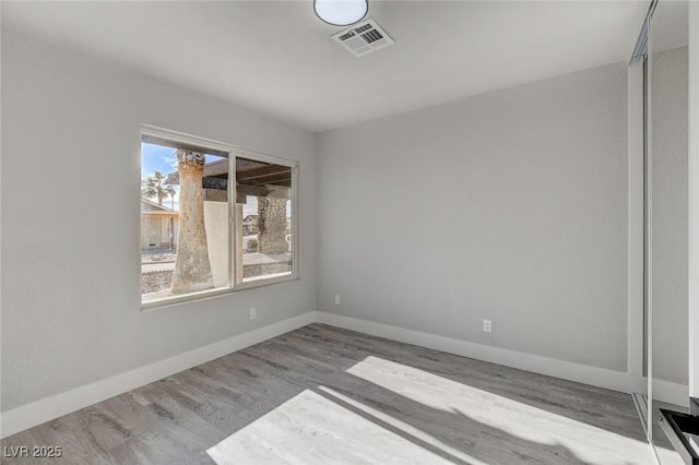
[[[301,279],[141,312],[140,123],[299,160]],[[3,26],[1,189],[2,410],[315,309],[313,135],[288,124]]]

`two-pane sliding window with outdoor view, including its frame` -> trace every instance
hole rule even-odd
[[[141,302],[296,275],[297,164],[156,128],[141,138]]]

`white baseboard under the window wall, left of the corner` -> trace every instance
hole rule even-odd
[[[126,373],[76,388],[2,413],[1,438],[42,425],[107,398],[317,321],[316,311],[199,347]]]

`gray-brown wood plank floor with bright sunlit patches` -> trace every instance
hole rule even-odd
[[[653,463],[627,394],[323,324],[2,445],[70,464]]]

